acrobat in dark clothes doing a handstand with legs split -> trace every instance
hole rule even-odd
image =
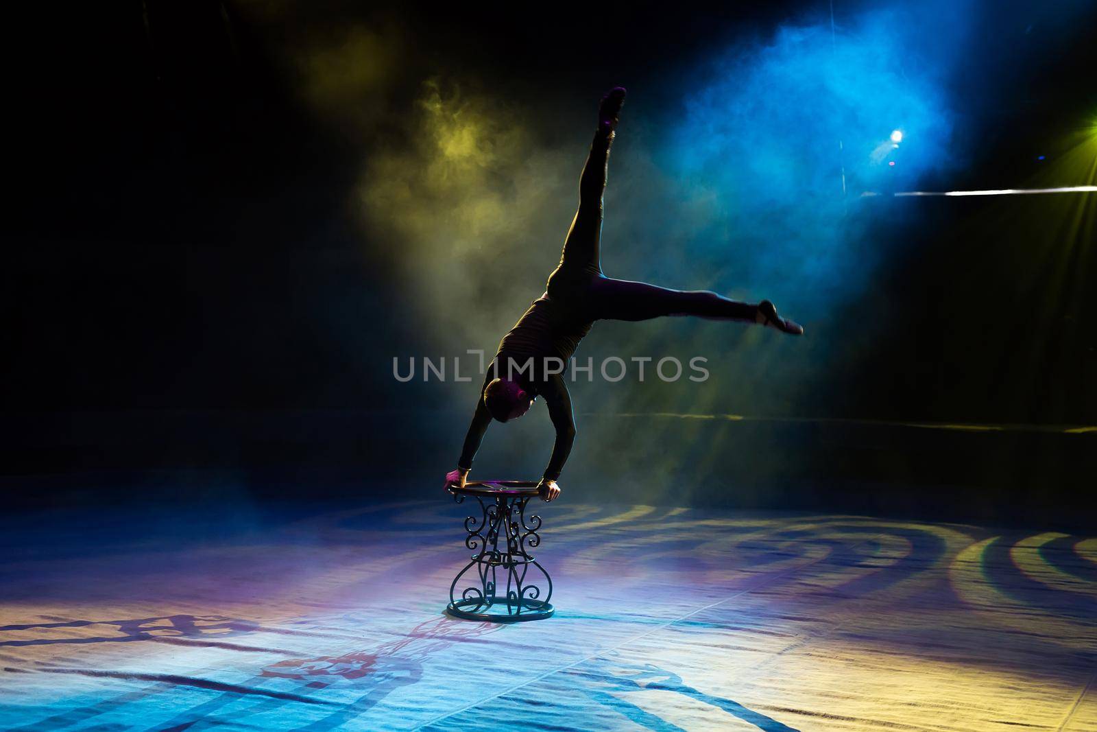
[[[714,292],[680,292],[644,282],[611,280],[602,273],[599,254],[602,193],[624,93],[624,89],[618,87],[602,98],[598,129],[579,179],[579,210],[564,240],[564,254],[548,275],[545,293],[533,301],[499,342],[476,402],[476,414],[465,436],[457,469],[445,476],[446,487],[465,484],[493,417],[499,421],[521,417],[538,396],[543,396],[556,428],[556,442],[538,488],[544,500],[553,500],[559,495],[556,478],[575,440],[572,398],[562,374],[595,320],[694,315],[758,323],[792,335],[804,331],[792,320],[779,317],[768,300],[751,305]]]

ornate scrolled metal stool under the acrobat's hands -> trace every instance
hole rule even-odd
[[[450,604],[445,611],[466,620],[518,622],[542,620],[555,608],[552,598],[552,577],[527,551],[541,543],[538,529],[541,517],[525,520],[525,504],[538,497],[538,484],[530,481],[475,481],[465,487],[450,487],[460,504],[465,496],[476,498],[479,517],[465,519],[465,547],[476,551],[450,585]],[[499,547],[499,542],[504,547]],[[544,576],[547,592],[541,598],[541,587],[533,584],[540,577],[529,575],[531,566]],[[465,579],[470,586],[459,590],[457,585],[468,570],[476,567],[476,579]],[[499,593],[499,575],[506,573],[506,593]],[[476,584],[472,584],[472,583]],[[455,595],[454,593],[460,593]]]

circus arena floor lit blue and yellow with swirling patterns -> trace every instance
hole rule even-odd
[[[497,624],[468,508],[0,518],[0,729],[1097,730],[1095,539],[565,494]]]

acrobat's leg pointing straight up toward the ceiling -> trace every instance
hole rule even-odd
[[[602,98],[598,108],[598,129],[590,144],[590,154],[579,177],[579,210],[572,219],[572,227],[564,240],[564,251],[559,266],[553,274],[573,277],[601,274],[600,239],[602,233],[602,194],[606,192],[606,171],[609,165],[610,145],[621,105],[624,104],[624,89],[617,87]]]

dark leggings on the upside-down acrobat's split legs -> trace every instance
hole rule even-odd
[[[559,264],[548,277],[548,297],[587,320],[648,320],[693,315],[720,320],[754,320],[757,308],[714,292],[680,291],[646,282],[613,280],[602,273],[602,194],[613,134],[595,134],[579,179],[579,210],[564,240]]]

